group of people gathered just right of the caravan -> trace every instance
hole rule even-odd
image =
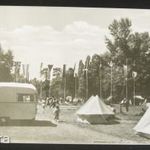
[[[42,99],[42,107],[45,109],[49,107],[49,109],[53,109],[54,113],[54,120],[59,121],[59,114],[60,114],[60,107],[59,107],[59,100],[55,97],[47,97]]]

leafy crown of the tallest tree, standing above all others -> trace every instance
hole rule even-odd
[[[122,18],[120,21],[114,20],[108,29],[113,38],[106,38],[106,46],[115,63],[123,65],[131,56],[129,49],[131,21],[128,18]]]

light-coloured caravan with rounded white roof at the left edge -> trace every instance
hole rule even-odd
[[[27,83],[0,83],[0,119],[34,119],[37,90]]]

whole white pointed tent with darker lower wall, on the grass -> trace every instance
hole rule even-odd
[[[107,123],[109,118],[114,116],[113,109],[98,96],[91,96],[76,114],[78,120],[91,124]]]

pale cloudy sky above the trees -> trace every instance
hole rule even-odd
[[[41,62],[74,67],[87,55],[106,52],[108,26],[126,17],[133,32],[150,32],[146,9],[0,6],[0,43],[15,61],[30,65],[31,79],[38,78]]]

